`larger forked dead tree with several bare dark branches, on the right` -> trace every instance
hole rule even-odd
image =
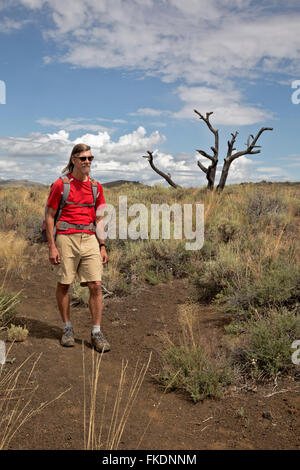
[[[202,119],[207,124],[208,128],[211,130],[211,132],[213,132],[215,136],[215,146],[211,147],[213,151],[213,156],[208,155],[203,150],[197,150],[197,152],[199,152],[200,155],[203,155],[204,157],[209,158],[212,161],[212,164],[208,168],[206,168],[200,161],[198,161],[197,163],[198,163],[199,168],[201,168],[201,170],[204,171],[204,173],[206,173],[206,178],[208,179],[207,189],[213,190],[216,168],[217,168],[217,163],[218,163],[218,155],[219,155],[218,131],[215,130],[212,127],[211,123],[209,122],[209,116],[213,114],[212,112],[206,113],[206,117],[202,116],[202,114],[200,114],[196,109],[194,109],[194,112],[198,114],[198,116],[200,116],[200,119]],[[242,150],[240,152],[235,152],[235,153],[233,153],[236,150],[234,148],[234,144],[235,144],[235,140],[237,138],[238,132],[236,131],[235,134],[231,134],[232,138],[231,140],[228,140],[227,142],[227,145],[228,145],[227,156],[226,158],[224,158],[222,173],[221,173],[219,184],[217,186],[217,192],[221,192],[224,189],[231,163],[236,158],[242,157],[243,155],[255,155],[257,153],[260,153],[260,150],[254,150],[256,148],[261,147],[260,145],[256,145],[256,142],[258,141],[259,137],[264,131],[272,131],[272,130],[273,130],[273,127],[262,127],[260,131],[257,133],[256,137],[250,134],[247,140],[246,150]]]

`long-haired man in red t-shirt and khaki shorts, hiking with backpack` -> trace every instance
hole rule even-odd
[[[80,285],[88,286],[90,291],[91,344],[98,352],[105,352],[110,350],[110,345],[100,328],[103,307],[101,276],[108,256],[102,238],[104,232],[98,240],[95,225],[103,224],[103,217],[96,217],[96,210],[104,208],[106,203],[101,184],[89,176],[93,159],[88,145],[77,144],[73,147],[69,163],[63,170],[65,176],[51,185],[45,221],[49,261],[57,265],[56,300],[63,321],[61,345],[75,345],[70,321],[69,287],[77,276]],[[65,185],[69,189],[67,202],[59,220],[55,220],[65,194]]]

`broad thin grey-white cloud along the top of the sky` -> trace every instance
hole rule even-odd
[[[73,65],[218,85],[300,70],[296,3],[285,2],[282,12],[268,0],[255,8],[248,0],[115,0],[113,8],[107,0],[23,0],[32,8],[46,3],[55,25],[46,35],[68,48],[61,60]]]

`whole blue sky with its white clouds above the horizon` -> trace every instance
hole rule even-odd
[[[296,0],[0,0],[0,177],[50,183],[84,142],[100,182],[162,182],[151,150],[178,184],[206,185],[197,109],[219,129],[216,183],[231,132],[242,150],[261,127],[228,183],[299,181],[299,27]]]

